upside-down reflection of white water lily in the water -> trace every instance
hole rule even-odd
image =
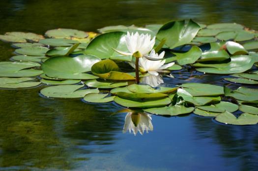
[[[133,132],[135,136],[138,131],[141,135],[143,135],[144,131],[146,131],[146,133],[153,131],[150,114],[135,113],[134,111],[128,112],[125,116],[123,133],[127,131],[129,131],[129,133]]]

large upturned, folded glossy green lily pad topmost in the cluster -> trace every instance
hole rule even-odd
[[[157,39],[160,41],[166,39],[166,45],[173,49],[175,47],[190,43],[201,27],[193,20],[189,20],[187,25],[185,21],[171,21],[164,24],[157,33]]]

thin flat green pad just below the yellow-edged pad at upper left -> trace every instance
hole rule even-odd
[[[65,38],[46,38],[39,40],[39,43],[48,46],[72,46],[73,44],[79,43],[79,41]]]

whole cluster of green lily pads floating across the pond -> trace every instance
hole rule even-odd
[[[257,85],[258,32],[236,23],[206,26],[192,20],[144,28],[109,26],[98,32],[55,29],[44,36],[23,32],[0,35],[1,40],[12,42],[16,48],[12,62],[0,62],[0,88],[43,84],[48,86],[40,94],[47,98],[83,98],[87,103],[114,101],[157,115],[193,112],[232,125],[258,123],[258,89],[161,84],[162,75],[172,77],[172,70],[191,67],[203,73],[229,75],[225,81],[232,84]],[[158,56],[156,53],[165,50],[164,63],[175,64],[163,70],[140,68],[142,83],[136,84],[138,72],[134,72],[135,58],[126,44],[127,32],[156,37],[152,53]],[[153,72],[159,73],[153,77]]]

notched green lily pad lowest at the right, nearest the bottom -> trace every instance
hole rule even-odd
[[[258,115],[242,113],[236,118],[232,113],[225,111],[216,116],[215,120],[230,125],[255,125],[258,123]]]

